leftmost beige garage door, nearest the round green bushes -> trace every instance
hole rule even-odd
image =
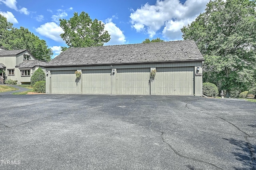
[[[51,93],[52,94],[79,94],[76,85],[76,70],[51,71]]]

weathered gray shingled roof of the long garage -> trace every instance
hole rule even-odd
[[[204,61],[192,40],[70,48],[46,67],[174,61]]]

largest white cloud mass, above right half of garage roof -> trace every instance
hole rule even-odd
[[[181,39],[180,29],[204,12],[209,0],[157,0],[148,3],[130,14],[132,27],[137,32],[146,32],[152,38],[158,31],[168,40]],[[162,30],[163,29],[163,30]],[[178,35],[178,36],[177,36]]]

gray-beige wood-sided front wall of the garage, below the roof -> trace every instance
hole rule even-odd
[[[151,68],[157,71],[154,81],[150,81]],[[79,82],[77,70],[82,72]],[[202,95],[202,75],[195,75],[202,73],[202,61],[48,67],[46,71],[48,94]]]

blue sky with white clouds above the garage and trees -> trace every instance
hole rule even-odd
[[[204,12],[210,0],[0,0],[0,14],[14,27],[28,28],[46,40],[55,57],[63,32],[59,18],[69,19],[82,11],[105,24],[111,40],[104,45],[141,43],[146,38],[182,40],[180,29]]]

